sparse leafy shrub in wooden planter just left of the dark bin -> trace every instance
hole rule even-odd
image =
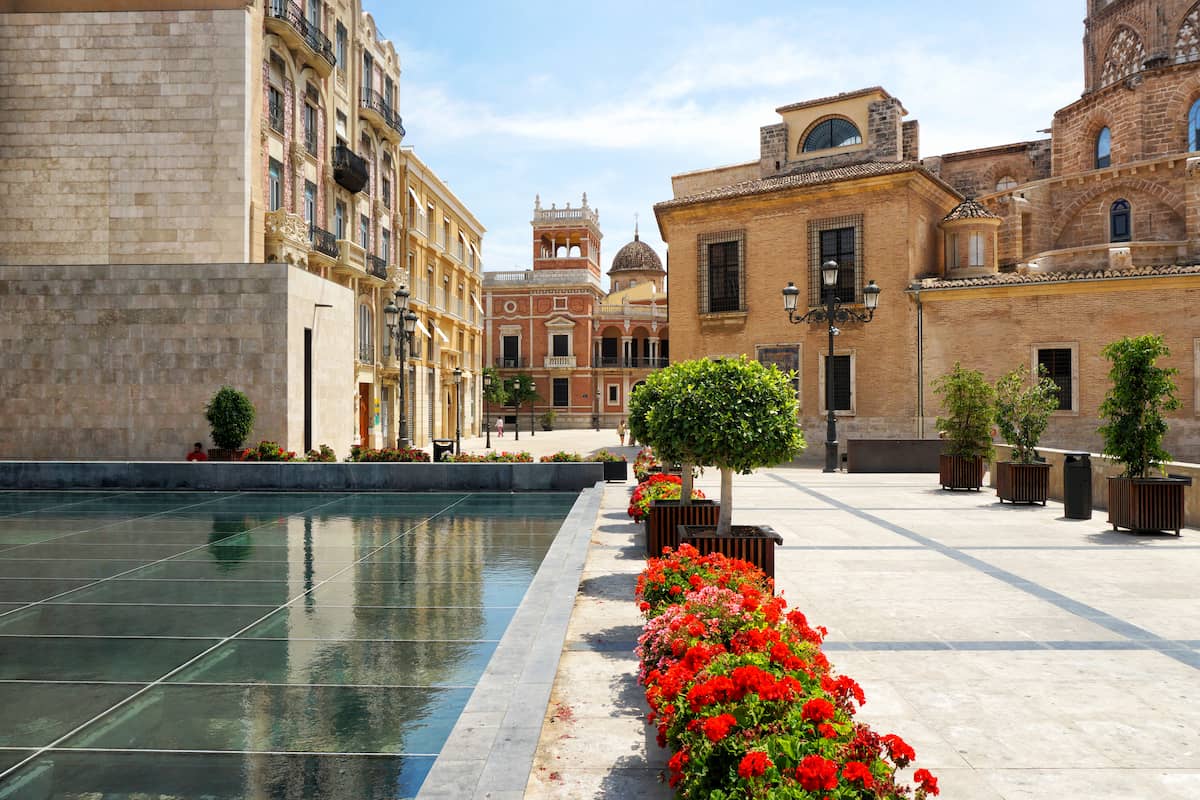
[[[1045,367],[1030,381],[1024,365],[996,381],[996,427],[1013,447],[1013,459],[996,462],[996,497],[1003,503],[1046,504],[1050,464],[1038,458],[1036,447],[1058,408],[1058,384]]]

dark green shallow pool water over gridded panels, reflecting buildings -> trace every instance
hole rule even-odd
[[[0,492],[0,800],[398,800],[568,494]]]

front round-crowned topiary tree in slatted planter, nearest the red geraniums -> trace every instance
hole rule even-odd
[[[689,463],[721,473],[716,525],[679,525],[679,543],[690,543],[701,553],[744,559],[774,577],[774,546],[784,540],[767,525],[732,524],[733,473],[773,467],[804,450],[791,375],[745,356],[701,359],[666,371],[677,368],[672,397],[666,402],[676,415],[672,446]],[[652,419],[654,415],[652,410]]]

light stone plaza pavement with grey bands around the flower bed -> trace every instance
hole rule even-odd
[[[715,497],[718,474],[698,485]],[[670,796],[630,652],[631,488],[605,491],[527,798]],[[1112,533],[1103,511],[1067,521],[934,475],[760,470],[733,498],[737,523],[782,534],[779,589],[829,628],[859,718],[904,736],[942,798],[1200,798],[1198,531]]]

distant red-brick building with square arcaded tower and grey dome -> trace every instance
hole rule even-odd
[[[600,213],[587,194],[574,209],[538,198],[532,225],[533,269],[484,275],[487,362],[502,377],[533,377],[535,417],[553,410],[556,427],[616,427],[630,390],[671,355],[662,261],[635,229],[605,293]]]

